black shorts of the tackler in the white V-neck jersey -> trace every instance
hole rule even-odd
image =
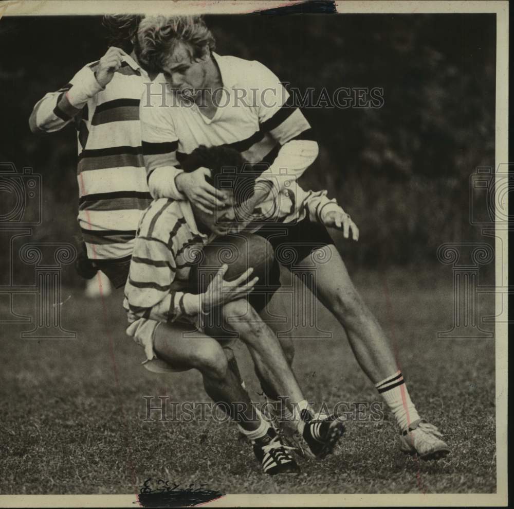
[[[334,243],[326,227],[309,218],[297,223],[269,223],[255,232],[273,246],[275,259],[289,268],[304,260],[311,252]]]

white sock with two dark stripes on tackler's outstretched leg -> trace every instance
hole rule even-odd
[[[375,387],[393,412],[401,431],[405,431],[412,423],[419,420],[420,417],[399,370],[394,375],[376,383]]]

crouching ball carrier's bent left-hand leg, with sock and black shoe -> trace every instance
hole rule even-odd
[[[248,393],[229,369],[227,356],[213,338],[195,332],[194,328],[174,324],[160,324],[155,331],[154,351],[158,358],[174,370],[196,368],[202,375],[207,394],[215,402],[226,403],[225,408],[237,422],[240,431],[252,443],[255,456],[265,473],[297,472],[298,465],[280,442],[275,430],[253,407]]]

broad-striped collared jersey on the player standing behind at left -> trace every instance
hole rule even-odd
[[[139,102],[148,74],[128,56],[104,89],[84,66],[36,103],[32,131],[77,129],[78,221],[90,259],[130,257],[137,224],[151,202],[141,150]]]

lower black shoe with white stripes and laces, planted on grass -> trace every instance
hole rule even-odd
[[[294,449],[282,444],[280,437],[273,428],[257,440],[252,441],[255,457],[262,465],[264,473],[274,476],[277,473],[298,473],[300,468],[291,457],[288,449]]]

